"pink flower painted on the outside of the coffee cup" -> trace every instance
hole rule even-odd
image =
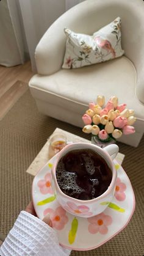
[[[67,206],[65,206],[65,208],[68,211],[70,211],[70,213],[76,213],[76,214],[79,214],[79,216],[92,215],[92,213],[89,211],[90,209],[88,207],[86,207],[85,205],[77,206],[76,203],[67,202]]]

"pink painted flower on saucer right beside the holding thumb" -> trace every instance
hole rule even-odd
[[[57,207],[55,211],[51,208],[47,208],[43,211],[43,216],[48,213],[52,221],[52,227],[57,230],[62,230],[68,222],[66,211],[62,207]]]

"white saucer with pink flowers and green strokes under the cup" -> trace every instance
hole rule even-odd
[[[82,218],[82,209],[79,217],[63,210],[57,202],[51,187],[51,168],[56,156],[48,161],[35,176],[32,185],[34,208],[38,218],[43,219],[46,213],[50,214],[52,226],[59,237],[60,245],[77,251],[95,249],[109,241],[128,225],[135,210],[135,196],[126,172],[113,161],[118,172],[115,196],[111,203],[107,203],[106,210],[94,217]]]

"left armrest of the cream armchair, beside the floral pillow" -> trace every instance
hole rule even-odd
[[[49,27],[35,49],[35,62],[40,75],[51,75],[62,66],[66,38],[59,24],[60,20]]]

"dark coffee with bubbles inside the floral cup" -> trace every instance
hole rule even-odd
[[[101,196],[112,181],[112,171],[91,149],[71,150],[57,164],[57,183],[64,194],[80,200]]]

